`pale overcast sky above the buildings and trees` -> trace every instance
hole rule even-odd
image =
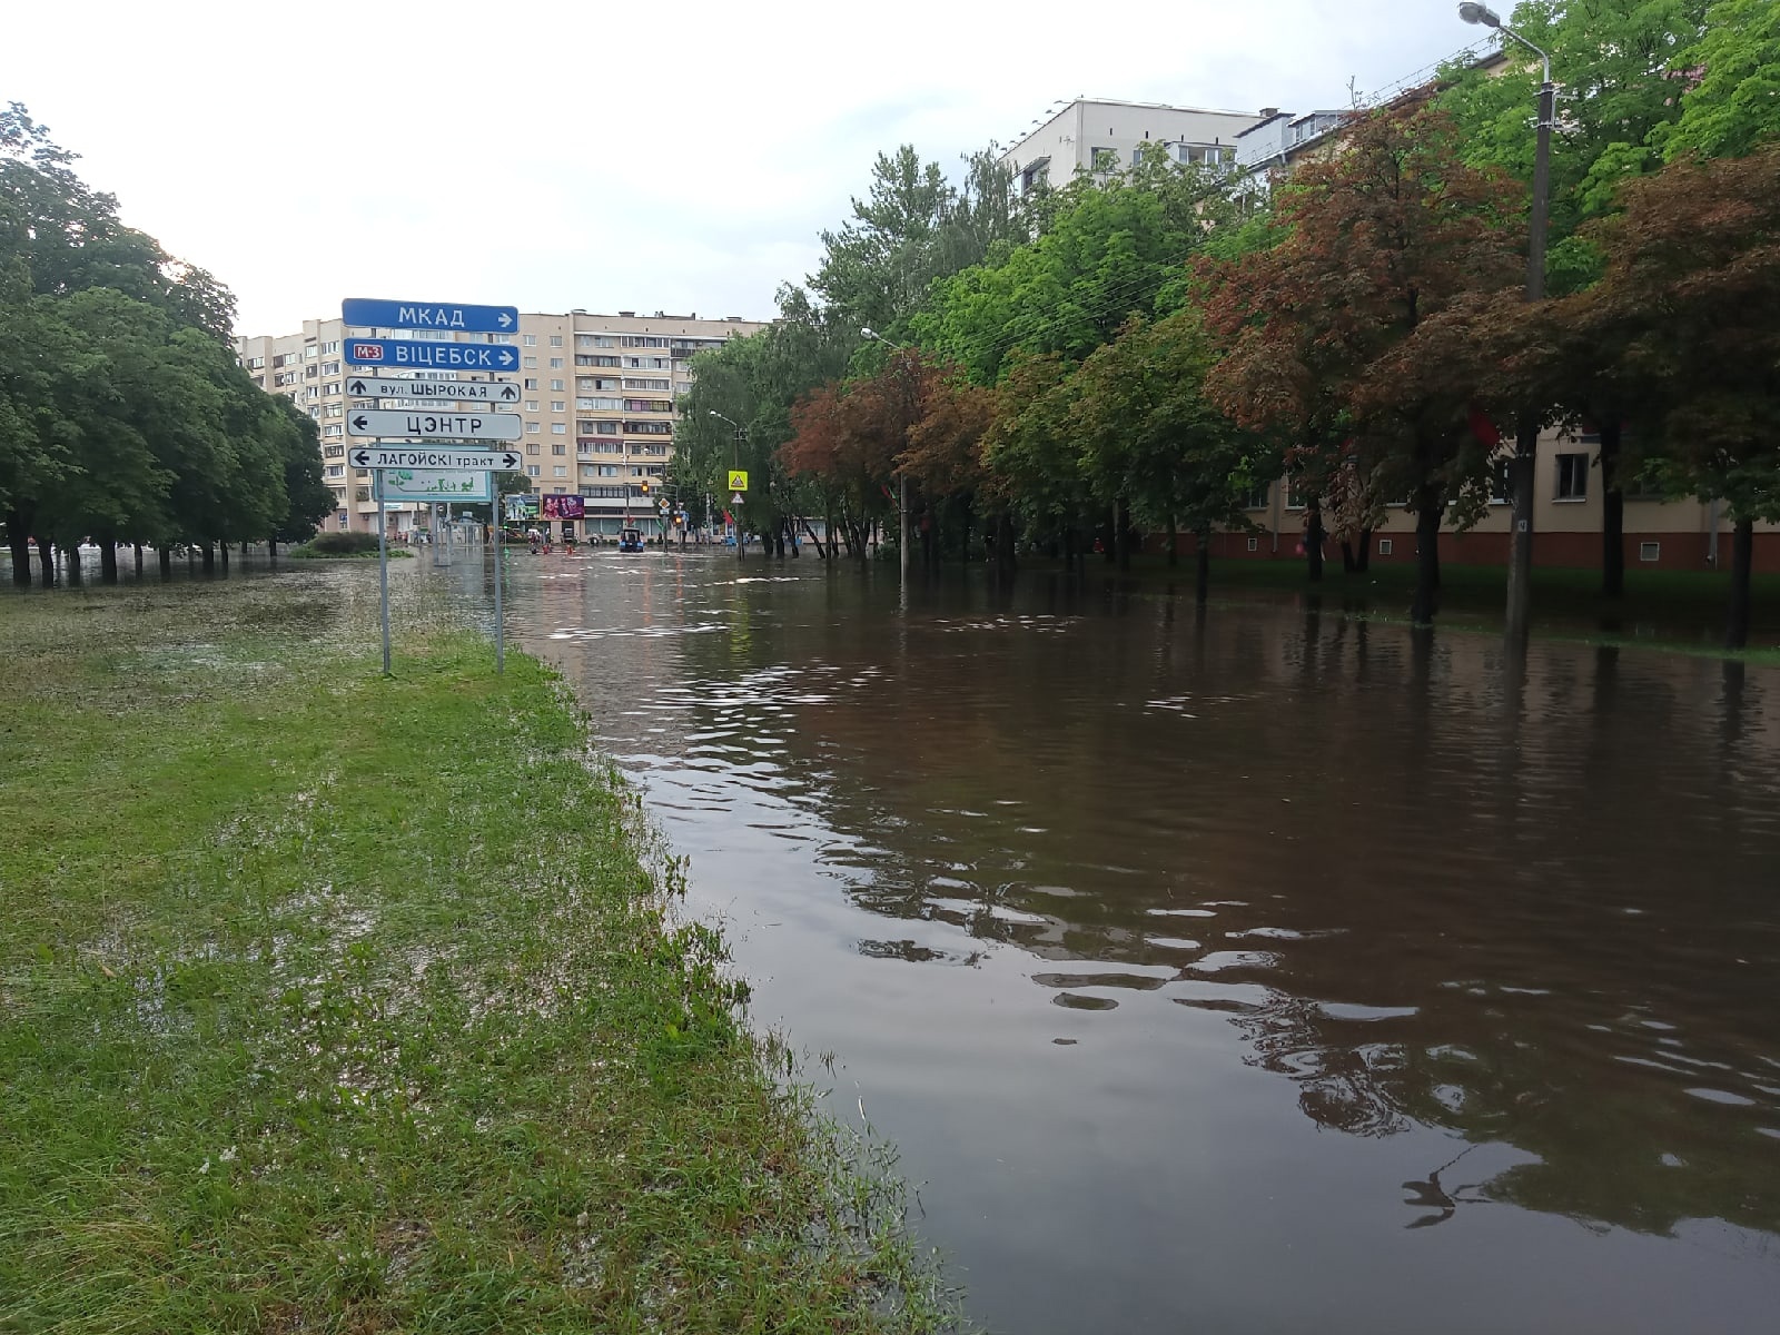
[[[1077,94],[1344,107],[1479,36],[1449,0],[7,11],[0,100],[228,283],[246,335],[345,295],[764,319],[879,150],[952,173]]]

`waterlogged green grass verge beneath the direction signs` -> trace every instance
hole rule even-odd
[[[0,1330],[945,1324],[561,682],[361,584],[5,602]]]

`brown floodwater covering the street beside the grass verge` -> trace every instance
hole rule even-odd
[[[1780,1326],[1780,673],[1098,571],[513,566],[990,1330]]]

